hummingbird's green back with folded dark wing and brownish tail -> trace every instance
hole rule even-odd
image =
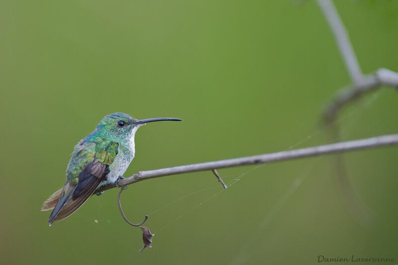
[[[109,173],[109,165],[117,155],[118,146],[117,142],[99,136],[82,140],[75,146],[66,170],[64,188],[60,193],[54,193],[55,196],[60,195],[49,217],[49,224],[74,213],[93,194]],[[54,204],[54,201],[53,197],[50,197],[43,208],[46,203]]]

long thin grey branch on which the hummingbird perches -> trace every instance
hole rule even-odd
[[[167,167],[167,168],[148,170],[148,171],[139,171],[138,173],[134,174],[131,177],[120,179],[117,184],[119,186],[126,186],[128,184],[132,184],[141,180],[169,176],[169,175],[176,175],[181,173],[213,170],[214,168],[225,168],[225,167],[233,167],[241,165],[263,164],[269,162],[297,159],[301,157],[351,151],[363,148],[372,148],[384,145],[395,145],[395,144],[398,144],[398,134],[381,135],[371,138],[343,141],[343,142],[318,145],[318,146],[301,148],[301,149],[280,151],[275,153],[259,154],[253,156],[211,161],[211,162],[198,163],[198,164]],[[114,185],[106,186],[103,188],[103,190],[114,187],[115,187]]]

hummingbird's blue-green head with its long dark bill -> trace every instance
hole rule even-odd
[[[177,118],[154,118],[137,120],[132,118],[128,114],[116,112],[103,117],[103,119],[97,125],[96,130],[102,133],[111,133],[114,135],[130,135],[131,133],[135,133],[137,129],[144,124],[158,121],[182,120]]]

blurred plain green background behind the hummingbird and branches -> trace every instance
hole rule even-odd
[[[398,71],[398,1],[335,3],[363,71]],[[350,78],[314,1],[1,1],[0,21],[2,264],[398,260],[397,147],[343,154],[363,215],[348,206],[335,155],[219,170],[227,190],[211,172],[130,185],[127,217],[149,214],[156,234],[143,253],[116,189],[52,227],[40,211],[74,145],[113,112],[184,119],[140,129],[125,177],[397,133],[390,88],[345,108],[341,137],[319,129]]]

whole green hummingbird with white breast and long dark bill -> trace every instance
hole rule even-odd
[[[134,135],[142,125],[177,118],[137,120],[124,113],[105,116],[96,129],[75,146],[66,169],[62,189],[44,202],[42,211],[53,209],[48,224],[73,214],[94,193],[107,185],[117,185],[134,158]]]

